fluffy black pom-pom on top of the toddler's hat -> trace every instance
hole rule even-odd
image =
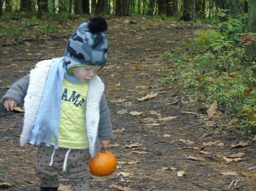
[[[92,33],[100,33],[108,29],[108,24],[103,17],[94,17],[88,23],[88,28]]]

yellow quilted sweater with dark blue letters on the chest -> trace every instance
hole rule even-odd
[[[85,105],[88,83],[72,84],[63,79],[58,143],[68,149],[88,149]],[[51,144],[54,145],[54,139]]]

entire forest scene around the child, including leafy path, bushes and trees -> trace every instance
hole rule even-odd
[[[255,0],[0,5],[0,97],[37,61],[63,55],[80,23],[107,19],[110,59],[99,75],[118,167],[92,178],[94,190],[255,190]],[[0,189],[40,184],[31,168],[37,147],[18,144],[20,109],[7,112],[0,100]]]

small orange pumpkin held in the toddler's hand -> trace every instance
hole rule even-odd
[[[117,159],[111,152],[101,149],[94,159],[89,156],[90,172],[94,176],[105,177],[112,174],[117,166]]]

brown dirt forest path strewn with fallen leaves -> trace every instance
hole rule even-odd
[[[164,52],[176,51],[181,41],[194,38],[194,30],[208,26],[163,21],[160,27],[147,19],[108,21],[108,65],[99,75],[105,83],[115,134],[109,150],[118,165],[108,177],[91,177],[92,190],[114,190],[111,185],[133,191],[256,190],[256,178],[245,175],[256,171],[255,143],[225,125],[207,127],[202,115],[175,100],[175,91],[164,89],[159,82],[157,70],[170,66]],[[59,35],[2,44],[0,96],[37,61],[63,56],[79,24],[73,21],[63,26]],[[156,97],[138,102],[137,98],[151,92]],[[0,185],[8,183],[9,188],[3,190],[37,190],[39,180],[32,165],[36,147],[19,147],[23,113],[6,112],[2,104],[0,112]],[[134,116],[130,112],[142,113]],[[240,141],[248,145],[231,147]],[[224,159],[234,154],[238,155],[233,158],[242,161]],[[179,171],[185,172],[183,177],[177,176]],[[62,173],[60,183],[68,185]]]

